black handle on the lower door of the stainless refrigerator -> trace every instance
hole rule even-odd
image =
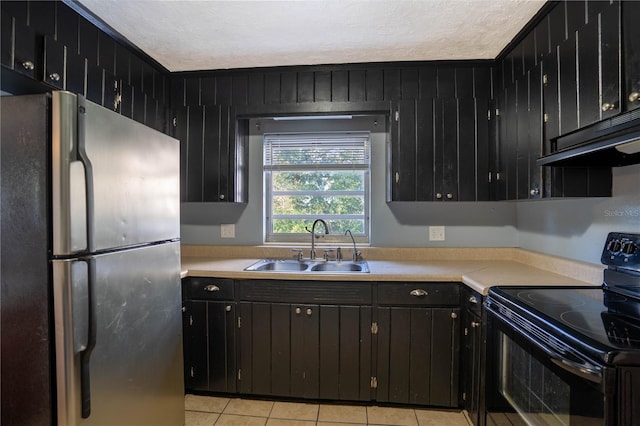
[[[89,274],[87,281],[87,342],[86,347],[80,353],[80,401],[82,418],[86,419],[91,415],[91,365],[90,358],[93,348],[96,346],[96,305],[95,305],[95,282],[96,282],[96,261],[91,258],[88,262]]]

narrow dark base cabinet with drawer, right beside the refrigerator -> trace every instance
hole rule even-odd
[[[236,391],[236,303],[233,280],[185,278],[183,341],[185,388]]]

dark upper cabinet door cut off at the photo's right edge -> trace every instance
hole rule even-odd
[[[625,91],[627,109],[640,108],[640,2],[622,3]]]

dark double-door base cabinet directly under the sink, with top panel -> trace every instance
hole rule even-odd
[[[239,281],[238,390],[371,399],[371,285]]]

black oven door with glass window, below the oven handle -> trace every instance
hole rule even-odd
[[[570,367],[530,333],[488,309],[487,425],[614,425],[615,371]],[[613,388],[608,386],[613,379]],[[610,392],[607,391],[610,389]]]

